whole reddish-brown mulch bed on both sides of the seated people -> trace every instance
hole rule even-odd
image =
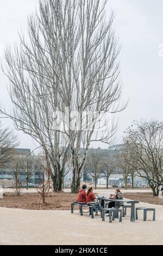
[[[152,193],[123,193],[123,197],[131,200],[139,200],[143,203],[163,205],[163,197],[153,197]],[[4,193],[0,199],[0,207],[17,208],[26,210],[70,210],[71,203],[77,199],[77,194],[58,192],[49,193],[45,204],[37,204],[38,193],[22,193],[20,197],[15,193]]]

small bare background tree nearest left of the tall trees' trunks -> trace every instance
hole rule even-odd
[[[21,172],[24,178],[26,179],[27,190],[30,178],[35,174],[36,162],[35,156],[23,155],[20,159]]]

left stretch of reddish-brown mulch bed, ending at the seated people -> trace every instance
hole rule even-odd
[[[37,204],[39,194],[22,193],[20,197],[14,193],[4,193],[0,199],[0,207],[17,208],[26,210],[70,210],[70,203],[76,200],[77,195],[71,193],[49,193],[45,199],[45,204]]]

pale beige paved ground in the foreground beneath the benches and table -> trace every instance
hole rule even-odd
[[[0,245],[163,245],[163,206],[156,208],[156,221],[122,223],[91,219],[78,211],[39,211],[0,208]],[[149,213],[148,218],[152,218]]]

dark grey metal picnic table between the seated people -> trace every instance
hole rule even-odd
[[[137,200],[127,200],[127,199],[111,199],[108,197],[97,197],[97,199],[101,200],[101,206],[105,208],[105,201],[106,202],[122,202],[122,203],[127,203],[131,204],[131,216],[130,216],[130,221],[133,222],[135,221],[135,204],[139,204],[139,201]]]

